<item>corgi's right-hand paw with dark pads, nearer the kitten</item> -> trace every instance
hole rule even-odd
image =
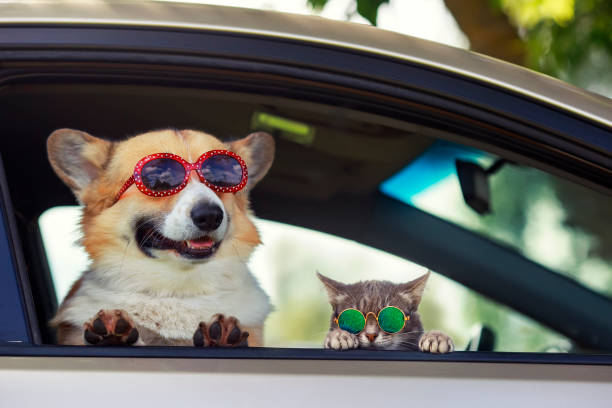
[[[196,347],[248,347],[249,333],[242,331],[235,317],[216,314],[207,324],[200,322],[193,335]]]

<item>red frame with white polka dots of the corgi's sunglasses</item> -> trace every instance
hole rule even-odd
[[[230,156],[236,159],[238,163],[240,164],[240,167],[242,169],[242,179],[240,180],[239,184],[232,186],[232,187],[215,186],[214,184],[206,180],[206,178],[202,174],[202,164],[206,160],[210,159],[211,157],[222,156],[222,155]],[[156,159],[172,159],[172,160],[179,162],[185,169],[185,178],[183,179],[183,182],[177,187],[166,190],[166,191],[153,191],[147,186],[145,186],[142,182],[142,177],[141,177],[142,168],[150,161],[156,160]],[[115,202],[119,201],[123,193],[125,193],[125,191],[128,188],[130,188],[132,184],[136,184],[136,187],[138,187],[138,190],[140,190],[141,193],[146,194],[151,197],[167,197],[173,194],[177,194],[182,189],[184,189],[185,186],[187,186],[187,183],[189,183],[189,178],[191,177],[191,172],[193,170],[195,170],[195,172],[198,174],[198,177],[200,178],[200,181],[202,183],[204,183],[208,188],[210,188],[211,190],[217,193],[236,193],[244,188],[248,180],[248,171],[247,171],[246,163],[244,162],[244,160],[242,160],[242,157],[238,156],[236,153],[231,152],[229,150],[210,150],[202,154],[200,157],[198,157],[198,160],[196,160],[195,163],[189,163],[187,160],[183,159],[181,156],[178,156],[172,153],[154,153],[154,154],[149,154],[143,157],[142,159],[138,161],[138,163],[136,163],[136,166],[134,166],[134,173],[130,176],[129,179],[126,180],[126,182],[123,184],[123,187],[121,187],[121,190],[119,190],[119,193],[117,193],[117,195],[115,196]]]

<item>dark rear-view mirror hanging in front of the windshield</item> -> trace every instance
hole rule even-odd
[[[477,163],[455,159],[463,199],[480,215],[491,213],[489,176],[498,171],[504,164],[506,164],[506,160],[499,159],[485,170]]]

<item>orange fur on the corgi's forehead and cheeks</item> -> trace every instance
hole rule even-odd
[[[202,152],[209,150],[225,149],[224,145],[215,137],[206,133],[193,130],[162,130],[157,132],[144,133],[132,137],[126,141],[116,143],[114,148],[110,148],[111,142],[107,144],[98,143],[91,146],[86,152],[86,157],[91,158],[96,163],[108,164],[101,177],[94,181],[82,195],[81,201],[84,204],[82,218],[83,227],[83,246],[94,261],[106,251],[122,251],[125,244],[113,233],[112,229],[121,225],[126,213],[133,213],[135,208],[155,207],[156,210],[169,211],[176,200],[178,194],[165,197],[163,200],[152,200],[138,191],[132,185],[121,197],[117,204],[113,205],[115,195],[121,186],[134,171],[134,164],[141,158],[149,154],[158,152],[171,152],[183,157],[185,160],[195,162]],[[241,147],[238,145],[237,147]],[[111,158],[106,158],[107,152],[113,152]],[[237,149],[240,154],[240,149]],[[243,159],[248,163],[250,157]],[[197,176],[192,173],[192,178]],[[218,194],[225,205],[232,222],[234,224],[234,240],[236,243],[225,245],[215,256],[223,256],[223,250],[231,250],[229,247],[240,248],[246,252],[258,245],[261,241],[255,225],[248,219],[249,201],[246,191],[237,194],[220,193]],[[112,208],[109,208],[112,206]],[[107,211],[104,211],[107,210]]]

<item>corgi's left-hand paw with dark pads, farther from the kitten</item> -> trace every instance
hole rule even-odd
[[[128,314],[119,309],[100,310],[83,325],[85,344],[130,346],[138,340],[138,330]]]

